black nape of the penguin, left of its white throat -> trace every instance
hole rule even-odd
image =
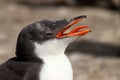
[[[18,60],[31,60],[31,61],[39,61],[40,59],[34,53],[34,45],[32,41],[27,39],[18,38],[16,45],[16,57]]]

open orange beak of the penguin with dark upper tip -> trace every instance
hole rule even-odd
[[[70,32],[65,33],[67,29],[69,29],[72,25],[78,23],[79,21],[83,20],[84,18],[87,18],[86,16],[78,16],[70,20],[68,25],[63,27],[61,30],[57,32],[56,38],[63,38],[63,37],[71,37],[71,36],[82,36],[89,32],[91,32],[91,29],[89,29],[88,26],[77,26],[74,29],[72,29]]]

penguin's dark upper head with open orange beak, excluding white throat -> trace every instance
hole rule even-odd
[[[88,28],[88,26],[78,26],[75,27],[68,33],[65,33],[72,25],[76,24],[80,20],[86,18],[86,16],[78,16],[70,20],[58,19],[58,20],[41,20],[32,23],[25,27],[20,32],[20,37],[28,39],[30,41],[42,43],[50,39],[63,39],[74,36],[84,35],[91,30],[81,30],[83,28]],[[81,31],[80,31],[81,30]]]

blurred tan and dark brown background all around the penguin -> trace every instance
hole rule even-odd
[[[78,25],[93,31],[66,50],[74,80],[120,80],[120,0],[0,0],[0,63],[15,56],[17,35],[26,25],[79,15],[88,18]]]

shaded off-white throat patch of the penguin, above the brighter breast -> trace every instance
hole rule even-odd
[[[45,56],[64,55],[65,49],[68,46],[68,44],[61,39],[51,39],[43,43],[35,42],[34,45],[34,52],[39,58]]]

